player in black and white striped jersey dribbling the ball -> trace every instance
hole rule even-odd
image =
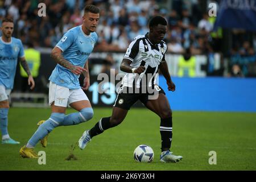
[[[162,16],[155,16],[150,20],[149,28],[149,33],[139,35],[131,42],[125,56],[123,56],[120,69],[127,74],[123,77],[112,116],[101,118],[92,129],[84,131],[79,139],[81,150],[94,136],[119,125],[125,119],[130,107],[140,100],[148,109],[160,117],[160,135],[162,139],[160,161],[179,162],[183,158],[182,156],[172,155],[172,152],[170,152],[172,110],[163,89],[156,85],[155,79],[158,69],[160,69],[166,78],[168,90],[175,91],[175,84],[171,80],[164,57],[167,51],[167,45],[163,42],[167,31],[166,19]],[[145,92],[143,92],[143,88],[146,88]],[[154,92],[150,93],[150,89]],[[135,90],[138,92],[134,92]]]

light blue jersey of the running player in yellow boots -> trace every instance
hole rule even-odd
[[[62,55],[65,60],[68,60],[73,65],[84,68],[85,62],[93,51],[97,39],[98,36],[96,32],[85,35],[82,31],[82,26],[77,26],[64,34],[56,47],[59,47],[63,51]],[[64,86],[69,89],[79,89],[81,88],[79,76],[80,75],[75,75],[69,69],[57,64],[49,80],[56,85]]]

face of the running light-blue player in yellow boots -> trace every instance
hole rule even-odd
[[[96,31],[96,26],[98,24],[98,20],[100,19],[100,14],[94,13],[85,13],[82,16],[83,24],[88,32]]]

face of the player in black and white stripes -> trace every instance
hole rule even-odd
[[[159,44],[163,40],[166,32],[167,26],[163,24],[158,24],[158,26],[150,27],[150,39],[152,40],[152,42]]]

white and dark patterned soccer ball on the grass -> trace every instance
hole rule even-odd
[[[141,144],[137,148],[135,148],[134,160],[141,163],[150,163],[154,159],[154,151],[150,146],[146,144]]]

